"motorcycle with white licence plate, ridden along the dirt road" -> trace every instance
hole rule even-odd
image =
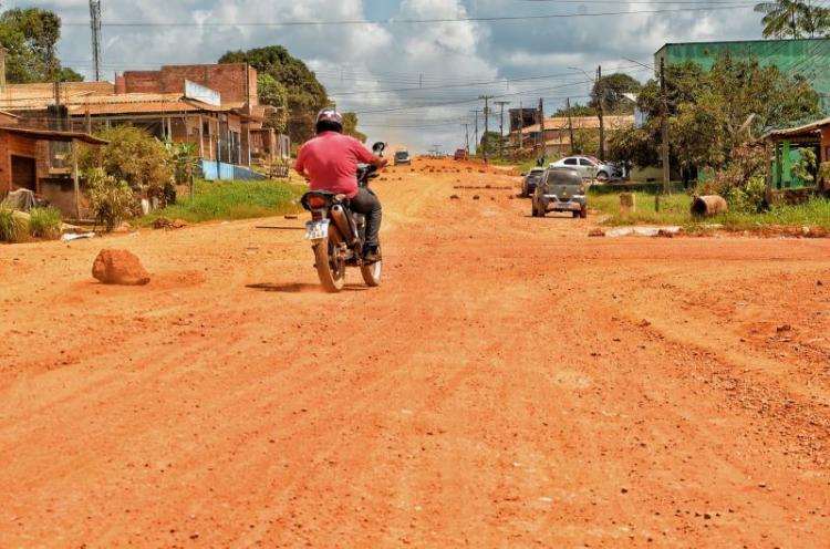
[[[386,146],[383,143],[372,146],[377,156],[383,156],[384,148]],[[376,167],[361,164],[356,175],[357,185],[367,187],[370,179],[378,174]],[[312,190],[303,195],[300,204],[311,213],[311,221],[305,224],[305,238],[311,240],[314,267],[323,288],[333,293],[341,291],[345,284],[346,267],[359,267],[366,286],[381,286],[381,249],[377,249],[377,261],[363,260],[366,218],[350,209],[349,198],[345,195]]]

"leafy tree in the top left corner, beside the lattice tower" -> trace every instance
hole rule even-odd
[[[83,77],[61,69],[55,44],[61,38],[61,19],[40,8],[15,8],[0,14],[0,45],[6,51],[6,76],[10,83],[49,82]]]

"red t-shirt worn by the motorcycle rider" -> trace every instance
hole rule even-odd
[[[328,190],[354,198],[357,164],[369,164],[372,153],[361,142],[336,132],[323,132],[297,155],[297,169],[311,179],[311,190]]]

